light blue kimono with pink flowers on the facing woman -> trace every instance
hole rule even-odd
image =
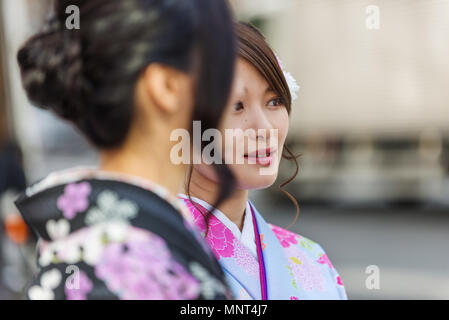
[[[259,260],[213,215],[206,236],[207,210],[183,200],[223,267],[235,297],[262,299]],[[269,300],[347,299],[337,270],[318,243],[268,224],[250,205],[260,235]]]

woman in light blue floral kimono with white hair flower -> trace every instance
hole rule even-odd
[[[229,199],[214,208],[211,204],[220,182],[210,166],[197,164],[180,197],[239,299],[347,299],[342,280],[323,248],[267,223],[248,199],[249,190],[274,183],[283,151],[287,153],[285,158],[296,162],[284,143],[291,104],[299,87],[283,71],[257,29],[237,24],[236,33],[237,68],[220,132],[253,132],[237,134],[236,143],[226,140],[224,144],[225,158],[230,151],[230,162],[234,161],[229,167],[236,177],[236,187]],[[236,147],[239,142],[240,149]],[[298,207],[296,201],[295,205]]]

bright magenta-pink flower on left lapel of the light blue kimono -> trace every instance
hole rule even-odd
[[[203,235],[205,235],[207,231],[206,221],[203,216],[205,212],[201,214],[201,212],[199,212],[188,200],[185,200],[184,202],[193,213],[197,228]],[[213,215],[210,215],[206,241],[218,260],[220,260],[221,257],[230,258],[234,255],[234,235],[232,234],[232,231]]]

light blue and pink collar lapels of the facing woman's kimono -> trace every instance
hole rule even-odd
[[[201,203],[194,205],[188,199],[184,199],[184,201],[193,213],[199,231],[205,236],[206,225],[203,215],[207,213],[208,208],[204,208]],[[248,204],[253,209],[261,238],[268,299],[289,299],[292,296],[297,296],[297,291],[290,285],[294,279],[289,273],[289,263],[284,249],[262,215],[250,201]],[[249,211],[247,214],[251,215],[251,210]],[[244,288],[253,299],[261,299],[257,258],[215,215],[210,218],[209,223],[206,241],[223,267],[231,287],[234,289],[234,294],[238,296],[240,288]]]

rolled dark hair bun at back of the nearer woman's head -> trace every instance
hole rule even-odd
[[[76,121],[82,85],[82,59],[76,30],[65,30],[49,22],[47,31],[28,40],[19,50],[23,86],[36,106],[51,109]],[[69,99],[74,97],[76,99]]]

